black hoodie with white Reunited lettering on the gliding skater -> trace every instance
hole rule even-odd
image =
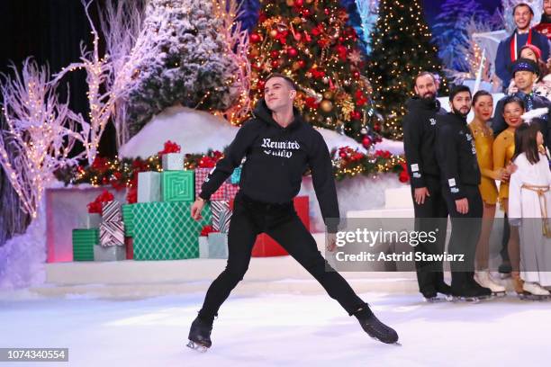
[[[339,202],[330,152],[320,132],[303,121],[296,109],[294,121],[282,128],[272,118],[264,99],[257,103],[254,115],[255,118],[239,129],[226,156],[218,161],[203,183],[199,196],[209,200],[246,157],[239,181],[240,192],[255,201],[290,202],[301,189],[303,173],[310,168],[326,225],[327,219],[338,219]],[[334,231],[334,226],[330,231]]]

